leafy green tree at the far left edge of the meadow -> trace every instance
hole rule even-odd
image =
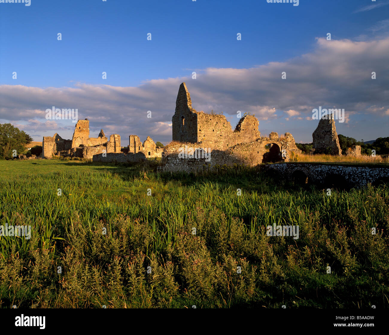
[[[10,123],[0,124],[0,158],[12,158],[13,150],[19,155],[25,150],[25,146],[32,142],[30,135]]]

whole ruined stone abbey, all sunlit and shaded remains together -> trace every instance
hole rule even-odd
[[[258,127],[254,115],[245,115],[232,129],[224,115],[197,112],[192,108],[186,84],[182,83],[172,117],[173,141],[166,147],[157,147],[149,136],[142,143],[137,135],[130,135],[128,146],[121,147],[120,136],[112,134],[108,140],[103,129],[98,137],[89,137],[89,120],[85,119],[77,122],[72,140],[64,140],[58,134],[44,137],[42,157],[79,157],[96,162],[139,162],[160,157],[160,171],[191,172],[224,164],[288,162],[301,153],[291,133],[261,136]],[[342,155],[331,117],[321,119],[312,136],[312,153]],[[352,148],[354,151],[349,154],[357,155],[358,149]]]

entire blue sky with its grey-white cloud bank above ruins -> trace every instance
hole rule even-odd
[[[74,124],[45,110],[78,108],[91,136],[167,143],[186,82],[193,108],[223,111],[233,127],[237,110],[254,113],[263,135],[311,142],[312,108],[336,106],[346,113],[338,133],[389,136],[388,14],[386,0],[0,3],[0,122],[37,141],[71,138]]]

